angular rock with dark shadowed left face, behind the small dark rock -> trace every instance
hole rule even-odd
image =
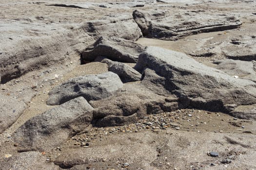
[[[138,55],[144,49],[145,47],[125,39],[100,37],[92,47],[82,51],[81,59],[94,61],[98,56],[104,56],[113,61],[136,63]]]

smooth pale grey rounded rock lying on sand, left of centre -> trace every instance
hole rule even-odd
[[[87,101],[106,98],[113,95],[122,85],[118,75],[110,71],[98,75],[79,76],[50,91],[47,104],[57,105],[79,96]]]

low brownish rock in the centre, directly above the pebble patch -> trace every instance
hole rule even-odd
[[[174,99],[174,100],[173,100]],[[115,126],[135,122],[147,114],[177,110],[184,107],[174,95],[158,95],[139,82],[125,84],[114,96],[90,101],[95,108],[93,117],[96,126]]]

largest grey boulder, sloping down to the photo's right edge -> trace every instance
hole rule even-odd
[[[231,77],[180,52],[148,47],[139,55],[135,68],[154,70],[166,79],[166,89],[178,97],[187,98],[190,106],[195,108],[223,110],[224,104],[256,103],[254,82]]]

